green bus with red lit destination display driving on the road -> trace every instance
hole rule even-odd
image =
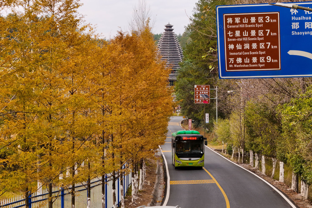
[[[172,164],[178,167],[204,166],[204,145],[207,139],[198,131],[177,131],[172,133],[171,153]]]

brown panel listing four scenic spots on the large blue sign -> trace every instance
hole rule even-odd
[[[226,71],[280,70],[279,12],[223,14]]]

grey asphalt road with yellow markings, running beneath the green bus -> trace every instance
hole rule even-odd
[[[203,169],[174,169],[171,134],[182,130],[181,116],[171,118],[166,143],[161,147],[167,162],[167,194],[163,205],[203,207],[296,207],[287,196],[251,172],[205,147]]]

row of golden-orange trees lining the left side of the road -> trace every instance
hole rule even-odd
[[[164,143],[170,71],[148,26],[107,43],[81,25],[78,1],[12,2],[24,12],[0,18],[0,195],[46,187],[52,207],[61,186],[75,207],[75,183],[90,193],[90,179],[115,181]]]

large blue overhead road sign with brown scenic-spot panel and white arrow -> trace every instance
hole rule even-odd
[[[216,13],[220,79],[312,76],[312,12],[245,4]]]

